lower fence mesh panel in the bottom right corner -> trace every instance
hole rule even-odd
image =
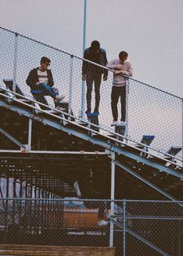
[[[127,202],[126,255],[181,255],[182,202]]]

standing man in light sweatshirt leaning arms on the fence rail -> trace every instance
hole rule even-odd
[[[125,125],[126,119],[126,81],[128,77],[133,76],[132,64],[127,61],[128,54],[126,51],[119,53],[119,59],[115,59],[106,64],[106,67],[114,71],[111,93],[111,107],[113,122],[112,126],[118,124],[118,101],[121,99],[121,119],[120,124]],[[126,77],[127,76],[127,77]]]

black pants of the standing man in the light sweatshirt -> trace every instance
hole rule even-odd
[[[123,86],[112,86],[111,93],[111,108],[113,120],[118,119],[118,101],[119,97],[121,100],[121,121],[125,122],[126,118],[126,85]]]

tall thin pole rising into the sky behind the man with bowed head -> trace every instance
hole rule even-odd
[[[84,0],[84,19],[83,19],[83,54],[86,44],[86,6],[87,0]],[[82,81],[81,87],[81,119],[85,119],[85,81]]]

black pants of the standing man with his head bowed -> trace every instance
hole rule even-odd
[[[86,85],[87,85],[87,109],[91,111],[91,92],[93,82],[95,84],[95,111],[98,112],[100,103],[100,85],[102,80],[102,74],[87,74],[86,75]]]

